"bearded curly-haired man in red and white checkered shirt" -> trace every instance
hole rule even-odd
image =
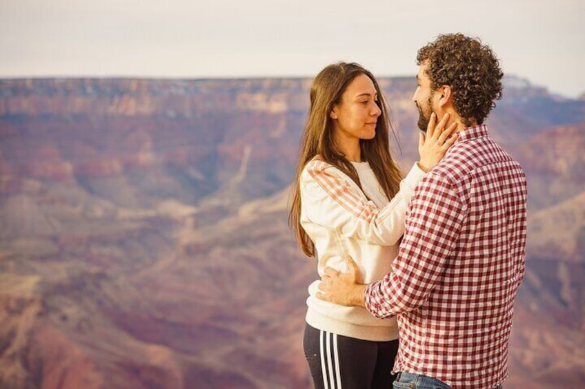
[[[326,269],[318,297],[397,315],[395,388],[498,388],[526,246],[524,172],[483,124],[503,74],[462,34],[439,36],[417,63],[419,128],[448,113],[457,142],[415,189],[393,272],[360,284],[349,258],[349,273]]]

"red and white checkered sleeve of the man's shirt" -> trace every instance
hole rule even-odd
[[[423,304],[457,247],[466,209],[440,176],[426,176],[410,201],[393,271],[366,288],[366,308],[384,318]]]

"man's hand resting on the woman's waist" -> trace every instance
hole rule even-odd
[[[366,306],[367,285],[361,284],[361,273],[351,257],[347,257],[348,273],[330,267],[319,282],[317,298],[345,306]]]

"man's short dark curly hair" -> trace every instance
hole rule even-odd
[[[428,61],[430,87],[449,85],[453,105],[465,125],[484,123],[502,97],[502,70],[492,50],[479,39],[464,34],[444,34],[420,48],[417,65]]]

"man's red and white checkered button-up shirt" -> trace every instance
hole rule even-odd
[[[524,171],[485,125],[464,129],[415,189],[393,272],[366,290],[368,311],[397,315],[394,370],[502,383],[525,247]]]

